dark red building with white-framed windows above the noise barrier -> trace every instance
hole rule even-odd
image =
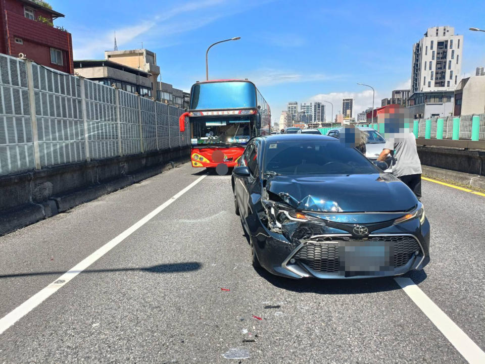
[[[0,0],[0,14],[0,53],[74,72],[71,33],[52,25],[63,14],[30,0]]]

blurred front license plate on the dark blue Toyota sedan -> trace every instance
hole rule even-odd
[[[346,277],[379,276],[394,270],[394,244],[390,242],[344,241],[338,253],[340,271]]]

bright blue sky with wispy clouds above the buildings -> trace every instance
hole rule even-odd
[[[72,33],[75,59],[102,59],[113,49],[143,46],[157,54],[161,80],[188,90],[209,77],[249,78],[279,120],[287,101],[325,99],[333,113],[342,97],[355,112],[409,85],[412,45],[428,27],[448,25],[464,35],[462,74],[485,66],[485,8],[480,1],[398,2],[310,0],[51,0],[66,15],[56,20]],[[330,118],[330,108],[326,112]]]

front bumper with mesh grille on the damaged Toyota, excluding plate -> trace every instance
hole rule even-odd
[[[346,272],[345,259],[342,259],[342,252],[345,250],[346,245],[355,244],[359,240],[354,239],[346,231],[329,229],[327,234],[320,234],[317,237],[318,239],[311,237],[309,239],[290,240],[283,234],[268,230],[256,215],[251,215],[247,221],[261,265],[267,271],[278,276],[295,279],[305,277],[356,279],[397,276],[411,270],[420,270],[429,262],[429,223],[427,220],[421,225],[415,219],[386,227],[370,234],[368,236],[369,241],[374,241],[374,244],[379,244],[379,241],[382,241],[382,244],[392,250],[392,262],[389,267],[375,272],[362,272],[363,274]],[[365,244],[365,241],[364,239],[363,244]],[[299,254],[299,252],[302,252],[303,249],[309,250],[309,244],[313,245],[313,253],[307,254],[306,259],[302,259],[302,254]],[[327,249],[330,245],[332,249]],[[407,250],[403,250],[405,248]],[[323,250],[332,250],[332,253],[329,253],[330,256],[328,254],[325,255],[322,254]],[[320,255],[316,256],[318,254],[315,252]],[[313,264],[310,264],[312,256],[317,258],[317,261],[313,261]],[[397,258],[398,256],[399,259]],[[330,259],[327,259],[329,257]],[[399,261],[399,266],[394,266],[395,261]],[[338,269],[336,269],[335,265],[338,265]],[[331,266],[331,269],[328,269],[327,266]]]

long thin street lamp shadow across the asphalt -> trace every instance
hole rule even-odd
[[[183,262],[183,263],[168,263],[159,264],[151,267],[136,267],[136,268],[108,268],[108,269],[86,269],[79,272],[80,274],[86,273],[110,273],[110,272],[150,272],[150,273],[179,273],[179,272],[191,272],[198,271],[202,268],[202,263],[199,262]],[[78,271],[70,271],[78,272]],[[13,278],[13,277],[28,277],[28,276],[46,276],[50,274],[64,274],[66,271],[50,271],[50,272],[28,272],[28,273],[15,273],[15,274],[4,274],[0,275],[2,278]]]

